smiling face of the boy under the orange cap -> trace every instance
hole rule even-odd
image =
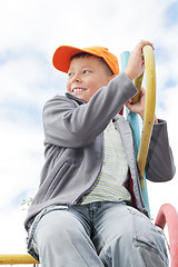
[[[96,91],[107,86],[110,76],[97,57],[73,58],[68,71],[67,91],[88,102]]]

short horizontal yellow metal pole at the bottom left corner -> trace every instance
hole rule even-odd
[[[0,255],[0,265],[21,265],[21,264],[39,264],[32,256],[28,254],[20,254],[20,255]]]

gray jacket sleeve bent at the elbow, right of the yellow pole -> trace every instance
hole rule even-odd
[[[168,181],[176,172],[172,151],[169,146],[167,122],[159,120],[154,126],[147,165],[147,179],[151,181]]]

